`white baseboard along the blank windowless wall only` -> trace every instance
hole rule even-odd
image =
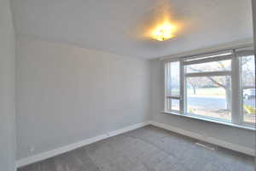
[[[39,161],[45,160],[49,157],[55,157],[57,155],[60,155],[60,154],[65,153],[67,151],[72,151],[72,150],[77,149],[79,147],[82,147],[84,145],[90,145],[90,144],[92,144],[96,141],[99,141],[99,140],[108,139],[109,137],[113,137],[113,136],[118,135],[118,134],[124,134],[128,131],[131,131],[131,130],[134,130],[134,129],[137,129],[137,128],[142,128],[142,127],[148,125],[149,123],[151,123],[151,122],[137,123],[135,125],[131,125],[131,126],[128,126],[128,127],[125,127],[125,128],[120,128],[120,129],[115,130],[115,131],[111,131],[108,134],[101,134],[101,135],[98,135],[96,137],[92,137],[90,139],[86,139],[86,140],[79,141],[77,143],[73,143],[71,145],[66,145],[66,146],[62,146],[60,148],[56,148],[52,151],[45,151],[45,152],[39,153],[37,155],[33,155],[31,157],[22,158],[22,159],[20,159],[16,162],[16,167],[20,168],[20,167],[26,166],[28,164],[32,164],[34,162],[39,162]]]

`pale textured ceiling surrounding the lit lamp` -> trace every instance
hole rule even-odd
[[[18,35],[153,59],[253,37],[251,0],[13,0]],[[180,27],[145,35],[168,16]]]

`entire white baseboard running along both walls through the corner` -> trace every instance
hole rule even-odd
[[[197,139],[197,140],[202,140],[202,141],[205,141],[207,143],[211,143],[213,145],[219,145],[219,146],[222,146],[224,148],[227,148],[227,149],[230,149],[230,150],[233,150],[233,151],[238,151],[238,152],[241,152],[241,153],[245,153],[247,155],[255,157],[255,150],[254,149],[247,148],[247,147],[241,146],[241,145],[235,145],[235,144],[232,144],[230,142],[227,142],[227,141],[224,141],[224,140],[218,140],[218,139],[215,139],[215,138],[212,138],[212,137],[205,137],[201,134],[196,134],[194,132],[187,131],[187,130],[184,130],[184,129],[181,129],[181,128],[172,127],[172,126],[166,125],[164,123],[155,123],[155,122],[152,122],[152,121],[148,121],[148,122],[145,122],[145,123],[137,123],[135,125],[131,125],[131,126],[125,127],[125,128],[120,128],[118,130],[109,132],[109,134],[101,134],[101,135],[98,135],[96,137],[93,137],[93,138],[90,138],[90,139],[87,139],[87,140],[82,140],[82,141],[79,141],[77,143],[73,143],[71,145],[62,146],[62,147],[56,148],[52,151],[45,151],[45,152],[39,153],[37,155],[33,155],[31,157],[22,158],[22,159],[20,159],[16,162],[16,167],[20,168],[20,167],[26,166],[28,164],[31,164],[33,162],[39,162],[39,161],[42,161],[42,160],[47,159],[49,157],[55,157],[57,155],[60,155],[60,154],[65,153],[67,151],[72,151],[72,150],[77,149],[79,147],[82,147],[84,145],[90,145],[91,143],[94,143],[96,141],[104,140],[104,139],[107,139],[109,137],[112,137],[112,136],[115,136],[115,135],[118,135],[118,134],[124,134],[128,131],[131,131],[131,130],[134,130],[134,129],[137,129],[137,128],[142,128],[142,127],[144,127],[146,125],[149,125],[149,124],[154,125],[155,127],[158,127],[158,128],[164,128],[166,130],[175,132],[177,134],[183,134],[185,136],[188,136],[188,137],[191,137],[191,138],[194,138],[194,139]]]

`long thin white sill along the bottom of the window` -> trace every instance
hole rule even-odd
[[[230,127],[234,127],[234,128],[242,128],[242,129],[247,129],[247,130],[251,130],[251,131],[256,130],[256,128],[253,128],[253,127],[247,127],[247,126],[238,125],[238,124],[235,124],[235,123],[225,123],[225,122],[222,122],[222,121],[212,120],[212,119],[208,119],[208,118],[204,118],[204,117],[196,117],[196,116],[192,116],[192,115],[181,115],[179,113],[171,112],[171,111],[161,111],[161,113],[174,115],[174,116],[179,116],[179,117],[189,117],[189,118],[192,118],[192,119],[197,119],[197,120],[206,121],[206,122],[210,122],[210,123],[218,123],[218,124],[222,124],[222,125],[226,125],[226,126],[230,126]]]

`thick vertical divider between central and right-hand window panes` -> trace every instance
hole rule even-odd
[[[233,50],[233,58],[231,61],[231,117],[232,123],[242,123],[242,112],[241,112],[241,68],[240,59],[236,56],[235,49]]]

